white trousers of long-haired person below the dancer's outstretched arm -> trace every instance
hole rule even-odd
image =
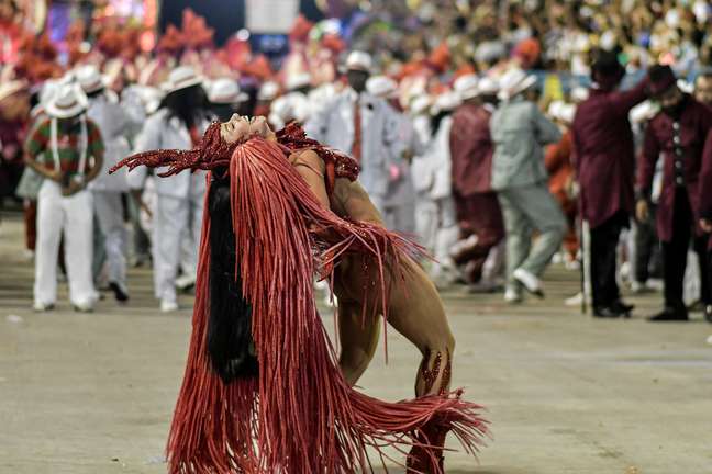
[[[181,262],[197,267],[202,211],[202,195],[178,199],[158,194],[156,199],[152,247],[155,294],[159,300],[176,302],[176,276]],[[181,253],[187,255],[181,258]]]

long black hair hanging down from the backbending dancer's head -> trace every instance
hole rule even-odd
[[[259,366],[252,339],[252,307],[242,294],[235,271],[235,233],[230,207],[230,179],[213,171],[208,195],[210,212],[210,318],[208,357],[224,383],[257,376]]]

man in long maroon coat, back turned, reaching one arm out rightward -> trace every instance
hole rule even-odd
[[[591,229],[593,315],[620,317],[633,306],[621,301],[615,280],[619,236],[628,226],[634,204],[635,150],[628,112],[647,98],[647,82],[618,91],[624,69],[613,53],[593,64],[590,97],[574,117],[574,165],[580,185],[581,216]]]

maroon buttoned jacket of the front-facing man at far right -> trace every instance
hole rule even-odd
[[[702,230],[697,225],[700,216],[701,195],[709,200],[712,188],[700,188],[700,173],[704,172],[703,163],[712,160],[712,111],[691,97],[679,119],[680,144],[683,149],[685,187],[687,188],[692,215],[698,234]],[[650,196],[655,165],[663,155],[663,190],[657,207],[657,229],[663,241],[672,238],[672,210],[675,208],[675,154],[672,143],[674,120],[660,112],[645,131],[643,154],[638,163],[637,188],[641,198]],[[707,194],[707,195],[704,195]]]

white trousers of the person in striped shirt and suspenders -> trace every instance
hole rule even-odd
[[[37,248],[34,300],[48,305],[57,301],[57,255],[64,233],[69,301],[79,306],[94,302],[91,274],[93,258],[93,205],[89,191],[63,196],[59,184],[45,180],[37,195]]]

